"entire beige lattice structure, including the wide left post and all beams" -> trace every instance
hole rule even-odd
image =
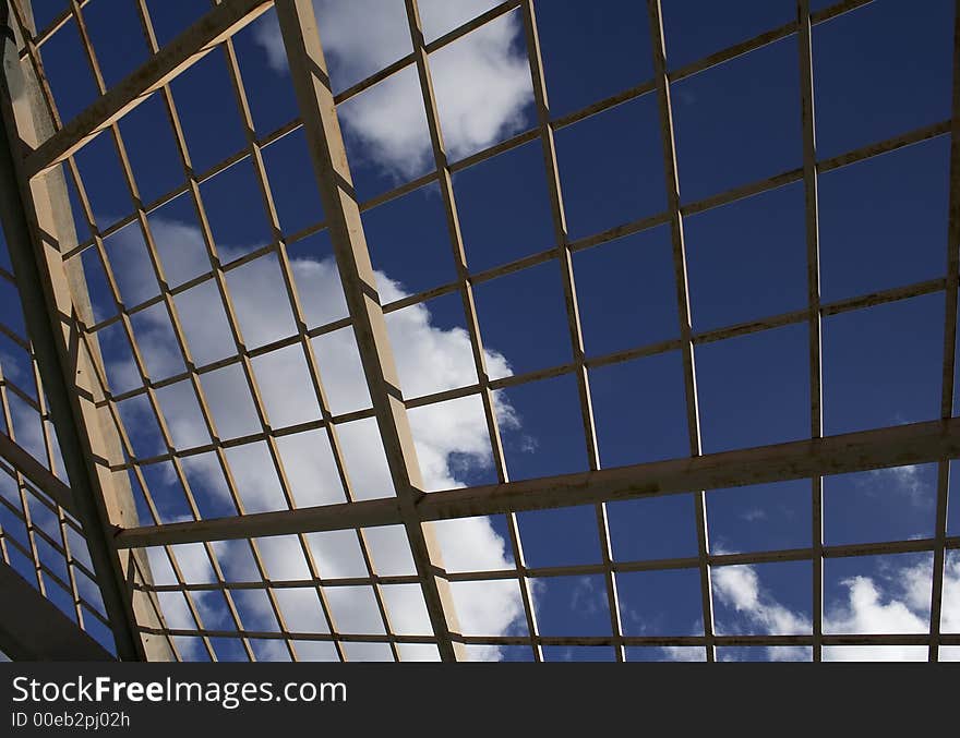
[[[21,657],[65,657],[96,650],[86,636],[76,630],[70,645],[40,640],[23,622],[14,622],[14,610],[35,614],[37,619],[50,617],[51,601],[67,601],[75,621],[91,633],[109,630],[116,640],[117,656],[124,660],[180,658],[178,639],[200,639],[206,653],[216,660],[214,641],[218,638],[239,640],[250,660],[256,660],[253,642],[277,641],[289,657],[298,657],[297,643],[323,641],[332,643],[340,660],[348,660],[346,645],[356,643],[387,644],[395,660],[403,661],[405,645],[435,646],[444,661],[468,657],[471,645],[527,646],[536,661],[542,660],[545,645],[612,646],[617,661],[626,658],[627,646],[694,646],[703,649],[707,661],[716,658],[717,646],[767,645],[808,646],[814,661],[820,661],[825,645],[897,644],[928,649],[929,661],[937,661],[941,645],[960,645],[960,633],[940,632],[940,609],[944,592],[945,558],[951,549],[960,549],[960,537],[947,535],[947,497],[950,459],[960,457],[960,420],[953,418],[955,344],[957,334],[958,274],[960,274],[960,76],[952,83],[952,118],[895,138],[877,142],[832,158],[819,158],[816,147],[814,117],[814,80],[812,28],[843,13],[867,4],[868,0],[841,0],[813,12],[808,0],[797,0],[796,19],[787,25],[770,28],[754,38],[716,52],[681,69],[668,71],[660,0],[647,2],[650,45],[653,53],[653,77],[574,113],[557,118],[551,114],[548,89],[540,53],[535,0],[507,0],[430,43],[424,39],[417,0],[406,0],[412,52],[362,82],[334,94],[326,74],[317,22],[311,0],[225,0],[213,4],[195,24],[175,40],[158,45],[149,11],[144,0],[136,0],[142,31],[152,56],[135,72],[117,85],[108,87],[100,73],[94,45],[85,29],[84,8],[97,0],[70,0],[67,10],[48,27],[36,28],[27,0],[10,0],[0,8],[4,29],[4,78],[2,98],[5,129],[3,160],[0,161],[2,189],[2,223],[10,251],[13,273],[0,269],[0,280],[12,286],[23,302],[27,337],[12,327],[0,326],[12,341],[29,355],[33,375],[28,386],[11,376],[0,380],[7,434],[0,434],[0,467],[16,489],[16,499],[0,498],[7,511],[22,521],[24,536],[0,531],[0,547],[5,564],[0,567],[3,614],[0,615],[0,650]],[[232,45],[232,36],[262,14],[273,9],[279,22],[300,116],[280,129],[257,137],[251,118],[247,89]],[[507,13],[519,13],[532,78],[536,101],[536,125],[490,148],[465,159],[451,161],[441,130],[437,101],[431,80],[430,55],[460,39],[482,25]],[[69,121],[61,121],[44,74],[44,45],[67,23],[79,29],[86,60],[97,83],[99,97],[87,109]],[[801,110],[803,132],[803,166],[763,181],[737,186],[698,202],[681,198],[677,179],[676,146],[672,113],[671,86],[771,43],[796,36],[800,48]],[[955,43],[953,69],[960,69],[960,25]],[[224,55],[232,83],[232,93],[247,129],[247,146],[206,171],[196,171],[191,162],[171,82],[207,53]],[[337,119],[337,106],[355,98],[373,85],[407,69],[416,70],[422,94],[433,166],[431,171],[412,182],[401,184],[372,199],[361,202],[353,191],[344,137]],[[662,138],[668,207],[664,211],[624,223],[581,239],[568,237],[564,197],[554,146],[554,133],[566,126],[609,110],[644,95],[656,96]],[[155,202],[140,198],[133,169],[127,154],[119,122],[148,96],[159,98],[175,131],[183,168],[184,184]],[[262,150],[280,137],[301,130],[309,144],[313,170],[319,184],[326,219],[293,234],[280,228],[277,207],[264,166]],[[108,137],[119,156],[125,184],[135,204],[135,211],[100,230],[85,194],[74,155],[94,138]],[[904,288],[863,294],[841,302],[820,299],[817,182],[818,177],[872,157],[938,136],[950,136],[950,192],[948,239],[944,244],[944,277]],[[467,263],[460,233],[457,203],[453,186],[456,172],[485,161],[497,154],[531,142],[542,147],[548,173],[550,206],[555,245],[501,267],[476,271]],[[257,177],[263,206],[272,220],[274,242],[247,256],[225,264],[212,233],[201,184],[228,167],[249,160]],[[68,178],[75,184],[80,214],[71,214],[67,194]],[[807,257],[807,306],[804,310],[770,315],[759,320],[733,325],[707,332],[695,332],[691,322],[687,262],[684,242],[684,219],[739,199],[767,192],[788,183],[802,183],[805,193],[805,238]],[[436,286],[425,292],[382,304],[377,294],[374,270],[364,239],[361,214],[373,207],[435,183],[442,196],[446,228],[453,245],[456,281]],[[175,197],[185,197],[201,225],[208,270],[192,280],[170,287],[147,216]],[[74,229],[79,216],[89,226],[92,238],[80,241]],[[137,305],[124,304],[111,268],[105,240],[121,228],[140,229],[147,247],[151,267],[160,286],[160,293]],[[676,304],[681,316],[680,338],[655,344],[639,346],[602,356],[588,356],[577,303],[573,256],[614,239],[656,227],[669,228],[673,268],[676,281]],[[348,317],[333,324],[312,326],[304,316],[301,295],[290,265],[287,249],[311,234],[326,231],[333,244],[336,265],[348,306]],[[94,318],[87,293],[82,255],[99,259],[116,302],[115,317],[99,323]],[[267,346],[249,349],[244,343],[235,295],[228,285],[231,270],[257,258],[277,259],[289,306],[296,318],[296,334]],[[545,370],[491,378],[479,328],[473,288],[520,269],[559,263],[563,275],[563,295],[573,361]],[[202,282],[213,285],[223,302],[227,323],[236,343],[236,355],[214,364],[197,365],[178,317],[175,298]],[[943,322],[944,354],[940,420],[878,427],[840,435],[824,436],[821,410],[820,356],[821,320],[831,315],[891,303],[909,298],[943,293],[946,310]],[[467,328],[476,364],[476,384],[422,397],[405,397],[387,335],[385,316],[392,312],[422,304],[441,295],[457,295],[467,316]],[[163,310],[169,317],[185,371],[161,379],[152,378],[132,320],[146,310]],[[700,443],[696,347],[736,336],[794,325],[808,326],[809,346],[809,439],[773,446],[746,448],[718,453],[704,453]],[[132,349],[142,387],[124,392],[111,390],[99,347],[98,331],[113,326],[121,330]],[[351,328],[356,335],[370,408],[346,414],[334,414],[324,386],[323,373],[312,339]],[[253,361],[281,348],[302,351],[312,388],[320,404],[319,421],[289,427],[271,425],[263,392],[257,384]],[[597,428],[591,403],[591,372],[616,363],[668,351],[680,351],[688,428],[688,457],[644,463],[635,467],[601,469]],[[205,398],[201,378],[204,374],[232,366],[244,377],[254,400],[260,432],[237,439],[218,436],[214,413]],[[501,441],[495,394],[544,377],[572,376],[576,380],[583,421],[588,470],[563,476],[511,481]],[[157,391],[175,383],[185,382],[195,392],[202,421],[212,443],[179,448],[167,426]],[[148,403],[166,445],[166,452],[141,458],[134,452],[130,430],[119,410],[124,400],[139,397]],[[408,410],[433,406],[463,397],[479,397],[482,402],[487,432],[493,450],[497,483],[460,489],[424,492]],[[45,457],[35,458],[13,432],[11,401],[33,409],[40,420]],[[356,491],[344,462],[338,427],[345,423],[373,419],[383,443],[395,496],[367,499]],[[56,435],[55,435],[56,428]],[[320,507],[298,507],[290,491],[278,439],[311,431],[326,434],[347,501]],[[59,441],[59,444],[58,444]],[[243,444],[266,445],[277,484],[286,499],[287,510],[245,512],[243,497],[235,480],[228,451]],[[201,506],[191,493],[191,483],[183,460],[208,453],[223,472],[237,515],[204,518]],[[62,461],[60,460],[62,458]],[[161,522],[144,468],[169,463],[187,495],[193,520]],[[825,545],[823,536],[824,475],[907,464],[935,462],[938,468],[936,528],[933,537],[890,541],[875,544]],[[706,512],[706,493],[711,489],[760,484],[783,480],[809,480],[813,510],[812,545],[805,548],[764,551],[747,554],[712,553]],[[133,503],[131,484],[142,491],[153,520],[141,520]],[[697,555],[694,557],[656,560],[615,560],[610,545],[608,503],[657,495],[694,493],[696,498]],[[603,549],[597,565],[530,568],[525,565],[517,513],[573,505],[591,505]],[[432,523],[472,516],[505,515],[508,545],[515,568],[496,571],[447,571]],[[367,530],[380,525],[400,525],[406,532],[415,571],[408,574],[379,573],[370,555]],[[329,578],[315,560],[308,541],[310,533],[348,531],[356,535],[362,552],[367,574]],[[266,536],[295,536],[310,569],[309,579],[276,580],[267,576],[259,540]],[[251,581],[230,581],[219,564],[215,544],[227,540],[247,540],[259,572]],[[201,544],[215,572],[209,583],[188,583],[171,546]],[[147,548],[164,551],[177,583],[156,584],[151,576]],[[922,634],[824,632],[824,560],[832,557],[855,557],[876,554],[927,552],[933,556],[933,586],[929,631]],[[57,559],[60,566],[50,561]],[[36,591],[24,590],[8,572],[21,562],[33,571]],[[711,571],[732,565],[776,561],[809,561],[813,570],[813,618],[808,634],[721,634],[713,628]],[[699,572],[704,632],[701,636],[631,636],[621,622],[617,576],[626,572],[692,569]],[[600,574],[607,585],[611,618],[610,636],[541,634],[538,630],[531,581],[540,578]],[[8,579],[12,583],[4,583]],[[468,633],[460,628],[454,588],[464,582],[516,582],[524,607],[526,634]],[[391,626],[389,607],[384,588],[415,584],[420,588],[429,616],[431,632],[398,633]],[[328,602],[328,592],[338,586],[370,586],[383,619],[383,632],[356,633],[339,627]],[[325,632],[297,632],[285,622],[285,612],[277,593],[295,589],[313,593],[326,619]],[[265,593],[279,624],[276,631],[257,631],[244,627],[235,605],[235,594],[242,590]],[[231,627],[204,627],[203,614],[194,597],[202,592],[223,595],[226,616]],[[15,593],[14,593],[15,592]],[[184,602],[196,622],[194,629],[167,626],[160,600],[166,595],[184,595]],[[9,603],[15,598],[16,605]],[[45,615],[46,614],[46,615]],[[85,653],[94,653],[94,651]]]

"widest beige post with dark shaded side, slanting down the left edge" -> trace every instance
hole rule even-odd
[[[7,2],[0,4],[0,214],[27,329],[117,655],[124,661],[166,661],[172,657],[166,639],[141,639],[136,629],[137,621],[159,625],[147,595],[134,595],[130,586],[133,556],[140,557],[142,572],[148,571],[145,557],[124,553],[121,559],[112,541],[115,527],[137,522],[136,508],[125,475],[110,471],[111,464],[122,461],[122,449],[111,420],[96,407],[101,388],[92,366],[101,358],[91,355],[79,332],[77,318],[91,315],[86,285],[77,261],[69,266],[61,257],[61,250],[76,244],[62,171],[53,168],[29,179],[24,173],[25,155],[52,133],[53,122],[33,70],[20,60],[23,39]]]

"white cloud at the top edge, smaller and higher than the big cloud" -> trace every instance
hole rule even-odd
[[[428,41],[494,7],[491,0],[420,2]],[[314,0],[324,52],[343,89],[412,50],[403,0]],[[463,158],[524,128],[533,93],[519,46],[520,20],[508,13],[430,55],[429,64],[447,154]],[[275,15],[254,29],[267,63],[287,72]],[[432,148],[416,69],[406,68],[338,108],[359,156],[397,179],[429,168]]]

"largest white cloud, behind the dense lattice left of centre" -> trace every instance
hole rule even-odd
[[[156,220],[152,223],[160,247],[161,259],[172,257],[176,243],[199,234],[182,223]],[[137,247],[135,232],[131,231],[130,249]],[[228,262],[231,255],[244,250],[220,249]],[[132,262],[128,262],[130,264]],[[185,273],[201,274],[201,264]],[[208,265],[207,265],[208,266]],[[311,324],[336,320],[345,313],[343,290],[335,265],[329,261],[296,258],[291,262],[298,291],[303,297],[304,310]],[[129,282],[148,282],[147,273],[127,275]],[[262,346],[293,330],[289,301],[283,287],[279,265],[274,257],[259,258],[231,269],[227,277],[235,301],[237,320],[249,348]],[[403,297],[403,287],[386,275],[377,275],[377,283],[385,301]],[[149,290],[144,288],[145,292]],[[181,323],[187,329],[187,343],[199,364],[218,361],[231,353],[232,339],[215,287],[207,281],[191,288],[175,299]],[[469,338],[458,328],[445,330],[432,324],[427,307],[398,311],[391,316],[389,336],[394,347],[400,384],[407,396],[435,391],[437,387],[464,386],[476,382],[469,353]],[[175,360],[179,353],[163,311],[141,315],[134,325],[139,342],[144,342],[148,365],[165,368],[166,375],[182,367]],[[148,337],[148,343],[142,341]],[[352,330],[347,328],[313,340],[321,380],[334,413],[369,408],[370,398],[360,367],[359,352]],[[105,348],[111,376],[134,373],[131,359]],[[501,373],[509,373],[506,359],[488,350],[488,363]],[[310,382],[307,363],[299,347],[281,349],[252,362],[253,373],[264,399],[268,422],[274,427],[320,419],[320,408]],[[180,370],[182,371],[182,368]],[[159,378],[159,377],[155,377]],[[238,365],[218,368],[201,376],[217,435],[223,439],[237,438],[259,430],[247,380]],[[200,414],[196,397],[187,382],[168,386],[158,392],[160,411],[170,428],[175,445],[188,449],[211,441]],[[513,409],[501,399],[497,411],[506,424],[518,420]],[[479,403],[478,403],[479,404]],[[134,434],[146,434],[148,409],[134,406],[128,415],[128,428]],[[429,489],[461,486],[458,474],[466,468],[482,468],[492,463],[489,437],[482,411],[464,401],[447,402],[424,408],[412,423],[418,455],[421,459],[424,484]],[[383,497],[394,494],[383,446],[373,419],[338,425],[345,465],[355,498]],[[154,441],[158,443],[158,441]],[[281,462],[289,477],[291,495],[298,507],[344,501],[345,492],[335,468],[334,457],[325,431],[313,431],[278,438]],[[160,451],[156,447],[157,452]],[[259,512],[287,507],[268,450],[263,441],[249,443],[226,451],[227,464],[233,476],[244,509]],[[208,501],[230,505],[223,470],[213,455],[188,457],[184,462],[188,479],[195,494]],[[153,493],[163,508],[167,495],[176,496],[177,481],[168,467],[161,475],[161,489]],[[169,488],[168,488],[169,485]],[[436,528],[445,566],[456,570],[469,561],[477,569],[503,569],[509,566],[505,542],[485,518],[446,521]],[[406,532],[401,527],[369,529],[364,533],[374,567],[381,573],[415,573]],[[308,545],[324,578],[365,576],[355,532],[312,533]],[[296,536],[261,539],[257,541],[266,576],[272,580],[298,580],[310,577],[300,543]],[[201,545],[176,547],[176,558],[185,581],[204,583],[215,581],[206,553]],[[229,581],[259,580],[249,545],[244,541],[214,544],[219,565]],[[156,581],[176,581],[169,562],[161,551],[152,552]],[[392,585],[381,589],[392,627],[405,634],[430,633],[425,604],[417,585]],[[253,630],[276,630],[277,624],[269,600],[263,591],[235,592],[244,626]],[[384,627],[370,586],[332,586],[325,595],[341,632],[383,632]],[[320,601],[312,590],[276,589],[275,596],[287,627],[293,631],[326,632],[327,626],[320,609]],[[161,598],[165,616],[172,628],[195,629],[194,618],[179,593],[167,593]],[[226,609],[219,593],[195,593],[206,627],[232,627],[224,620]],[[481,583],[456,597],[457,615],[468,632],[502,634],[509,629],[523,610],[519,593],[500,583]],[[388,656],[383,644],[351,644],[355,658]],[[196,645],[184,646],[188,655],[199,655]],[[328,648],[304,645],[304,654],[320,657],[334,656]],[[424,649],[406,650],[412,657],[435,656]],[[283,656],[283,650],[267,651],[267,655]],[[484,658],[499,657],[495,648],[475,651]]]

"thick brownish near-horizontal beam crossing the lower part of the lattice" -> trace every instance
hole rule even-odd
[[[960,419],[896,425],[687,459],[420,495],[423,521],[720,489],[960,458]],[[401,521],[397,499],[128,529],[119,548],[285,535]]]

